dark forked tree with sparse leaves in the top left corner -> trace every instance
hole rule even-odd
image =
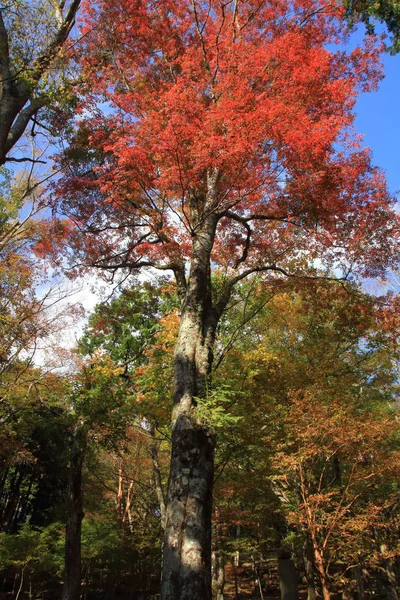
[[[0,165],[21,161],[9,152],[38,111],[54,102],[54,73],[79,5],[80,0],[7,0],[1,7]]]

